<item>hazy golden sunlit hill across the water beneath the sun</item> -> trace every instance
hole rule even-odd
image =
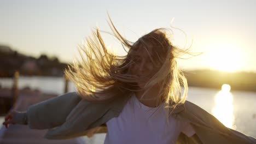
[[[226,83],[230,85],[233,90],[256,92],[255,73],[193,70],[185,71],[184,74],[187,77],[189,86],[220,89],[222,85]]]

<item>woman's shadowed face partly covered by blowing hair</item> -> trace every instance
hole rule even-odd
[[[154,62],[153,62],[154,61]],[[161,64],[153,56],[152,49],[139,47],[132,55],[131,74],[138,76],[138,86],[144,88],[149,79],[158,72]]]

